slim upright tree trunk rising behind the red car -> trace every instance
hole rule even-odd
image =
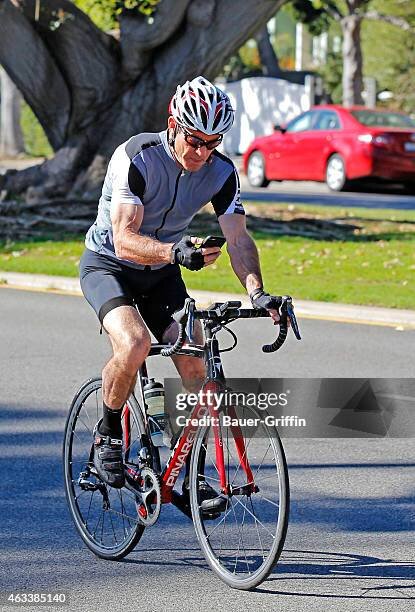
[[[341,20],[343,32],[343,104],[363,104],[362,47],[360,27],[362,19],[357,14]]]

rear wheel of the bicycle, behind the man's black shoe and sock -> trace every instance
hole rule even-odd
[[[86,381],[68,414],[63,468],[66,498],[75,527],[98,557],[121,559],[141,538],[144,526],[137,515],[134,493],[101,482],[92,463],[93,428],[102,416],[102,381]],[[137,400],[132,395],[122,413],[124,462],[138,469],[145,435]]]

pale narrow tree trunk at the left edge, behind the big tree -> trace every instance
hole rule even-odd
[[[0,66],[0,157],[16,157],[24,152],[20,128],[21,95]]]

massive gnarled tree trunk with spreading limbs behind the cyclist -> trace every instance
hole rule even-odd
[[[0,177],[0,189],[31,202],[96,197],[115,147],[163,129],[177,84],[214,79],[284,2],[163,0],[153,24],[125,11],[117,41],[69,0],[42,0],[39,20],[35,0],[0,0],[0,62],[56,151],[39,167]]]

